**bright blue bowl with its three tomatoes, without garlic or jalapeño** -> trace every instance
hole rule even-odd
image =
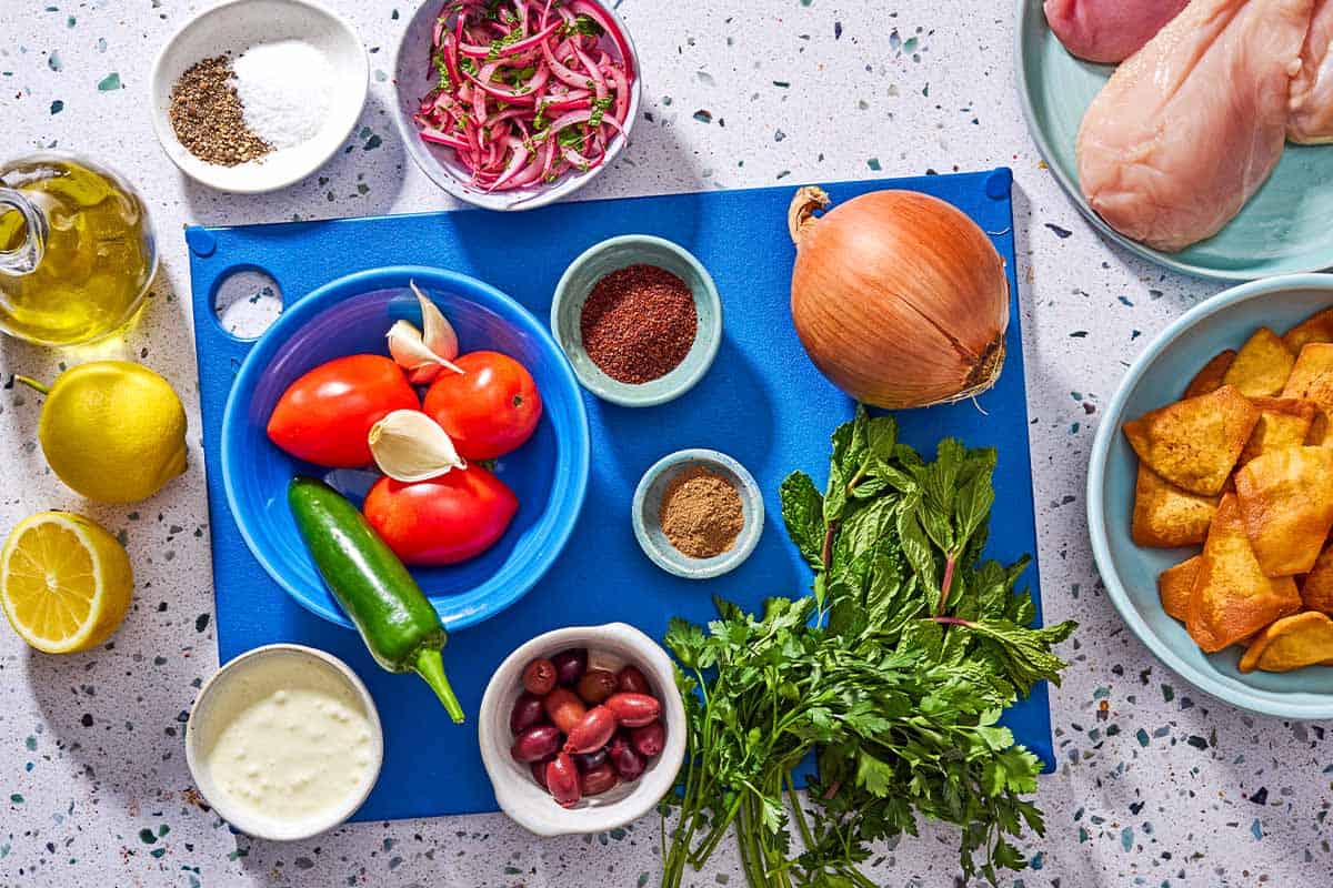
[[[388,332],[423,326],[413,285],[452,325],[464,373],[396,374]],[[367,427],[395,410],[436,418],[465,467],[381,475]],[[303,607],[352,626],[287,503],[292,478],[313,475],[363,506],[457,630],[517,602],[564,550],[588,487],[588,414],[560,347],[517,302],[465,274],[384,268],[315,290],[259,339],[227,401],[221,462],[241,537]]]

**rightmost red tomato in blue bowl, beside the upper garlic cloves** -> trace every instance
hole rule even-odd
[[[425,393],[424,410],[440,423],[464,459],[495,459],[517,450],[537,430],[541,394],[527,367],[499,351],[472,351],[455,361]]]

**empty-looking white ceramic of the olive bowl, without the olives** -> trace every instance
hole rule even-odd
[[[633,663],[643,670],[653,696],[661,700],[661,722],[666,746],[635,783],[621,783],[600,796],[565,809],[532,779],[532,770],[509,755],[513,735],[509,711],[523,694],[523,670],[540,656],[552,656],[572,647],[588,648],[589,668],[620,670]],[[539,635],[511,654],[487,686],[481,698],[477,734],[481,762],[500,808],[520,827],[539,836],[571,836],[604,832],[637,820],[657,807],[676,783],[685,760],[685,707],[676,690],[672,660],[653,639],[625,623],[579,626]]]

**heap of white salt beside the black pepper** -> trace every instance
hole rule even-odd
[[[232,69],[245,125],[275,149],[292,148],[319,134],[328,117],[333,68],[304,40],[251,47]]]

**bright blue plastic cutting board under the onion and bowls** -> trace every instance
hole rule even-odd
[[[834,202],[882,188],[941,197],[990,233],[1008,262],[1013,309],[1009,358],[998,385],[977,405],[898,415],[902,439],[928,453],[945,435],[998,447],[996,519],[988,551],[1005,562],[1037,550],[1010,185],[1009,170],[1000,169],[828,188]],[[419,679],[381,672],[355,632],[297,606],[245,549],[227,509],[217,445],[232,377],[249,343],[219,325],[212,310],[219,282],[231,272],[257,268],[279,282],[285,298],[296,300],[352,272],[433,265],[493,284],[545,318],[565,266],[613,234],[670,238],[713,273],[722,296],[725,339],[708,377],[684,398],[648,410],[611,406],[585,394],[593,467],[572,542],[525,599],[497,619],[449,639],[447,668],[464,708],[475,714],[491,672],[539,632],[624,620],[660,639],[672,615],[696,622],[712,618],[713,594],[754,607],[768,595],[808,590],[809,571],[781,525],[777,487],[793,469],[812,473],[822,485],[829,433],[850,415],[853,405],[814,370],[792,329],[788,288],[794,249],[786,234],[786,206],[793,190],[591,201],[531,213],[468,210],[187,232],[221,659],[261,644],[300,642],[341,656],[360,672],[384,720],[385,758],[380,781],[357,820],[472,813],[497,805],[481,768],[475,724],[449,723]],[[640,475],[659,457],[681,447],[732,454],[765,493],[769,517],[758,549],[737,571],[710,582],[677,579],[659,570],[640,551],[631,529],[629,503]],[[1026,580],[1036,591],[1036,566]],[[1005,720],[1021,743],[1052,762],[1045,686]]]

